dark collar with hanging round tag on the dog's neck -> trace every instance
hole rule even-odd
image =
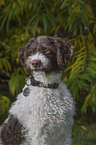
[[[30,83],[27,83],[27,81],[26,81],[27,87],[23,90],[24,96],[28,96],[30,94],[29,86],[31,86],[31,85],[37,86],[37,87],[43,87],[43,88],[52,88],[52,89],[58,88],[58,85],[59,85],[58,83],[54,83],[54,84],[46,84],[45,83],[44,84],[43,82],[36,81],[33,76],[30,76],[28,79],[30,80]]]

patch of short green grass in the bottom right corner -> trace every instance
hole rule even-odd
[[[72,136],[72,145],[96,145],[96,123],[81,124],[76,121]]]

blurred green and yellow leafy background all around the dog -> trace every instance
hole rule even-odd
[[[76,102],[73,145],[96,145],[95,0],[0,0],[0,124],[27,77],[19,48],[38,35],[58,36],[74,45],[62,73]]]

